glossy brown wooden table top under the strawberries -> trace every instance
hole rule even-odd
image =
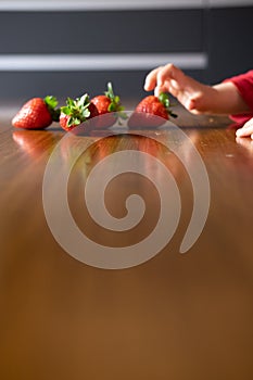
[[[75,140],[77,147],[92,144],[74,165],[68,203],[83,233],[100,244],[135,244],[150,233],[160,200],[144,175],[163,180],[148,161],[143,176],[115,179],[105,194],[110,212],[124,217],[126,198],[137,192],[146,214],[128,232],[104,230],[84,205],[85,181],[101,159],[126,149],[150,153],[167,167],[180,192],[181,215],[170,241],[142,265],[116,270],[75,259],[47,224],[43,175],[64,132],[56,126],[14,130],[10,119],[0,122],[1,379],[253,378],[253,142],[236,140],[227,118],[197,117],[180,109],[179,114],[176,123],[198,149],[211,189],[205,226],[186,254],[179,248],[192,213],[192,183],[164,145],[175,142],[177,131],[153,129],[147,131],[150,137],[100,132]],[[73,147],[62,145],[66,167]]]

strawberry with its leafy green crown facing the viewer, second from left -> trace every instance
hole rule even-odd
[[[60,125],[69,131],[98,115],[97,106],[90,102],[88,93],[75,100],[67,98],[66,105],[61,107]]]

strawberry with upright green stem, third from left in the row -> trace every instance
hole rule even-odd
[[[104,94],[92,98],[91,103],[97,106],[99,115],[103,115],[99,117],[98,128],[111,127],[116,122],[114,113],[118,112],[121,116],[121,112],[124,110],[119,97],[115,96],[113,92],[111,83],[107,84],[107,91],[105,91]]]

